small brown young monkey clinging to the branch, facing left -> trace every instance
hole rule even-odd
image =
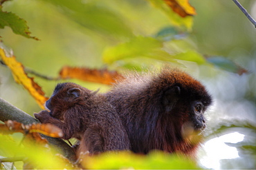
[[[129,150],[130,143],[120,117],[107,98],[75,83],[59,83],[46,101],[46,108],[34,114],[41,123],[62,129],[65,140],[80,140],[76,155],[89,152]]]

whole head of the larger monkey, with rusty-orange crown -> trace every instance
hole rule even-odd
[[[212,103],[205,87],[180,70],[163,70],[157,77],[157,88],[164,89],[162,96],[163,112],[170,116],[181,133],[205,129],[204,112]],[[186,135],[185,135],[186,136]]]

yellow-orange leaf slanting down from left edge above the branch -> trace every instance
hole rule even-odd
[[[44,96],[42,88],[33,81],[33,78],[28,77],[24,71],[24,66],[16,61],[15,56],[12,55],[12,52],[7,52],[6,47],[3,43],[0,42],[0,56],[10,70],[12,71],[12,76],[15,78],[15,81],[25,87],[28,92],[35,98],[39,106],[44,109],[44,103],[48,98]]]

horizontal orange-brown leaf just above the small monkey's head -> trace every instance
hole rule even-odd
[[[60,71],[61,78],[77,78],[82,81],[90,81],[94,83],[102,83],[111,85],[116,78],[123,78],[122,75],[116,71],[109,71],[107,69],[97,70],[79,67],[62,67]]]

